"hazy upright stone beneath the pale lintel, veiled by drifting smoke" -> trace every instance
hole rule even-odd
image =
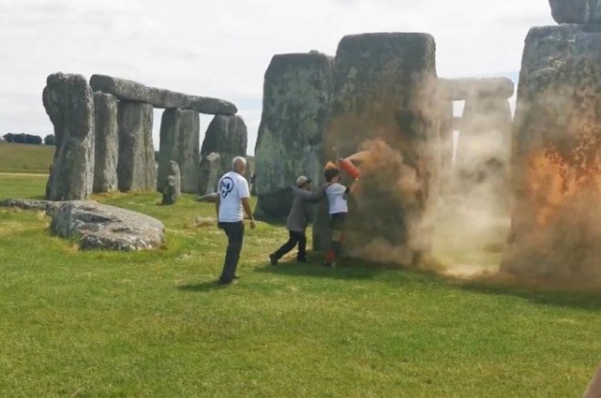
[[[458,194],[497,208],[508,205],[511,132],[509,100],[477,96],[465,100],[454,168]]]

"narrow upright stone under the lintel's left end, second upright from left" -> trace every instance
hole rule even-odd
[[[117,189],[119,155],[117,98],[110,94],[94,93],[94,109],[96,120],[94,192],[111,192]]]

